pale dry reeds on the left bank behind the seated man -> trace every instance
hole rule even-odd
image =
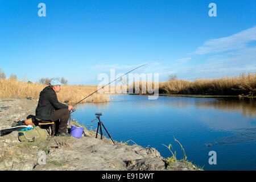
[[[0,97],[5,98],[27,98],[33,97],[39,99],[40,92],[47,85],[27,83],[24,81],[18,81],[15,79],[1,79],[0,80]],[[66,102],[69,104],[78,102],[88,96],[90,93],[97,90],[97,86],[77,86],[77,85],[64,85],[61,86],[61,91],[57,93],[57,98],[60,102]],[[85,102],[108,102],[109,96],[104,94],[95,93],[92,96],[86,98],[81,103]]]

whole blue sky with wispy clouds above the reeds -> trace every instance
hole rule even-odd
[[[46,17],[38,4],[46,4]],[[210,17],[209,3],[217,16]],[[256,71],[256,1],[2,1],[0,68],[9,77],[159,73],[195,80]],[[111,81],[111,80],[109,80]]]

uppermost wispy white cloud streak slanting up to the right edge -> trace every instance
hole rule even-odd
[[[254,40],[256,40],[256,26],[225,38],[210,39],[203,46],[197,48],[194,53],[204,55],[241,49],[246,47],[247,43]]]

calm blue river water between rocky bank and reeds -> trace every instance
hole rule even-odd
[[[164,158],[172,154],[204,170],[256,170],[255,99],[110,95],[110,102],[80,104],[73,118],[97,129],[96,112],[118,142],[154,147]],[[104,130],[104,135],[108,137]],[[163,145],[164,144],[164,145]],[[210,151],[216,152],[213,154]],[[111,151],[109,151],[111,152]],[[209,163],[216,162],[216,164]]]

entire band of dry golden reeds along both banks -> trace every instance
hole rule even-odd
[[[0,98],[33,98],[39,99],[40,92],[47,85],[33,83],[31,81],[19,81],[16,78],[0,79]],[[89,94],[100,87],[97,85],[64,85],[57,93],[60,102],[76,103],[100,103],[109,102],[108,94],[133,94],[151,95],[154,87],[158,88],[156,96],[168,97],[204,97],[204,98],[255,98],[256,97],[256,73],[245,73],[240,76],[222,77],[214,79],[199,79],[195,81],[171,79],[164,82],[138,81],[133,84],[121,86],[105,86],[92,96],[83,100]],[[110,93],[110,90],[115,93]],[[121,89],[127,93],[118,93]],[[108,93],[106,91],[109,91]],[[126,91],[127,90],[127,91]]]

